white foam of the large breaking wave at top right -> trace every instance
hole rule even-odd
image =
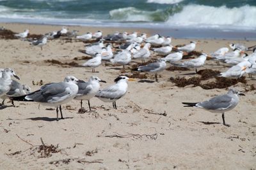
[[[183,10],[170,16],[166,22],[169,25],[196,27],[244,27],[256,29],[256,7],[241,6],[227,8],[191,4]]]

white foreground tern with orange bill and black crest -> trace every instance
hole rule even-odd
[[[128,78],[127,76],[118,76],[118,78],[116,78],[114,81],[115,85],[111,85],[103,90],[99,90],[96,97],[106,103],[113,103],[113,108],[117,109],[116,100],[120,99],[126,94],[128,88],[127,81],[135,81],[135,79]]]

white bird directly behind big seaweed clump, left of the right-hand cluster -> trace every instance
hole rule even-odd
[[[175,66],[193,68],[193,69],[195,69],[195,71],[197,73],[197,68],[204,66],[206,58],[207,58],[207,54],[202,53],[196,59],[187,60],[187,61],[183,62],[182,64],[175,64]]]

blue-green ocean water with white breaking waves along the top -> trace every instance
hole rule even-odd
[[[256,31],[256,0],[0,0],[0,22]]]

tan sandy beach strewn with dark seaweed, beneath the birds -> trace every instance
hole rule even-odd
[[[30,34],[61,29],[60,25],[1,23],[0,26],[13,32],[29,29]],[[79,34],[98,30],[104,35],[115,31],[152,34],[148,29],[79,26],[68,29],[78,30]],[[229,43],[256,45],[256,41],[175,38],[172,45],[189,41],[198,41],[196,51],[205,53]],[[43,50],[29,45],[28,41],[0,39],[0,63],[2,68],[12,68],[20,77],[19,82],[34,91],[40,88],[40,80],[44,84],[59,82],[67,75],[82,80],[96,75],[107,81],[101,87],[108,87],[120,74],[134,76],[132,67],[141,62],[132,60],[125,73],[122,66],[111,64],[102,64],[96,68],[97,73],[92,73],[89,67],[70,64],[83,64],[86,56],[89,57],[79,50],[84,50],[83,42],[65,38],[49,40]],[[59,62],[52,63],[52,60]],[[207,60],[198,70],[203,69],[225,71],[228,67]],[[188,73],[194,70],[166,69],[159,73],[159,82],[153,83],[141,82],[134,76],[136,81],[128,82],[127,94],[116,101],[117,110],[112,103],[94,97],[90,100],[93,111],[78,113],[80,103],[73,100],[62,106],[65,119],[59,122],[56,122],[55,108],[17,101],[12,107],[6,100],[8,107],[0,110],[0,169],[255,169],[256,90],[253,87],[256,87],[256,76],[253,80],[246,74],[243,82],[232,86],[246,96],[240,97],[234,110],[225,113],[230,125],[226,127],[221,114],[183,107],[182,102],[205,101],[227,92],[227,88],[177,87],[171,81],[178,77],[200,77]],[[154,81],[154,74],[138,74]],[[86,101],[83,106],[88,110]]]

